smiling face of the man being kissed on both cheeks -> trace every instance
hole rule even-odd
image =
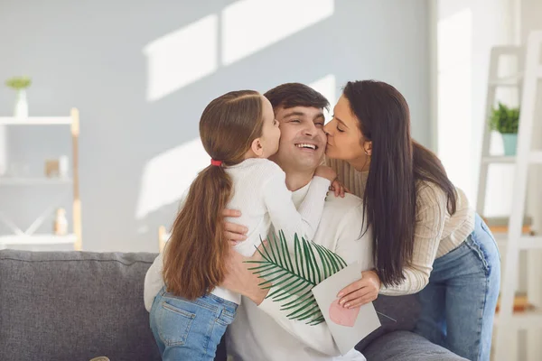
[[[277,106],[275,117],[281,137],[278,152],[269,159],[283,170],[314,171],[322,162],[327,142],[322,109]]]

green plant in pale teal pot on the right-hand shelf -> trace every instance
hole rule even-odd
[[[519,108],[499,102],[499,106],[491,111],[490,126],[491,130],[502,136],[504,155],[515,155],[518,145]]]

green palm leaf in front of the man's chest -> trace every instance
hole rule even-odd
[[[329,249],[294,235],[294,252],[288,249],[283,231],[268,237],[257,252],[262,255],[257,264],[249,268],[264,281],[259,283],[263,289],[271,289],[266,298],[281,302],[281,310],[288,312],[288,319],[303,320],[307,324],[317,325],[324,321],[322,311],[314,299],[313,287],[341,271],[346,262]]]

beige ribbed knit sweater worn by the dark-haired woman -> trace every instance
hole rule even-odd
[[[356,171],[349,163],[327,160],[337,171],[339,180],[353,194],[363,198],[369,171]],[[405,267],[405,282],[391,287],[382,287],[381,294],[402,295],[416,293],[429,282],[435,258],[446,255],[459,245],[474,229],[474,210],[463,190],[457,190],[457,207],[453,216],[447,211],[447,198],[443,190],[433,183],[418,185],[416,205],[416,229],[412,263]]]

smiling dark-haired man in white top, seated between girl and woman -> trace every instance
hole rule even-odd
[[[285,171],[286,186],[293,191],[294,204],[299,206],[316,167],[322,163],[327,143],[322,110],[329,103],[320,93],[297,83],[273,88],[265,96],[275,110],[281,130],[279,150],[270,159]],[[330,194],[313,241],[341,255],[348,264],[360,262],[363,269],[370,269],[370,235],[364,232],[362,219],[361,199],[351,194],[344,198]],[[236,228],[229,229],[234,231],[231,238],[238,239]],[[238,261],[230,264],[233,273],[243,273]],[[236,319],[227,330],[227,349],[234,360],[365,359],[356,350],[335,358],[340,352],[327,325],[309,326],[304,321],[287,319],[287,312],[280,310],[277,302],[264,300],[267,292],[257,286],[259,282],[251,279],[251,274],[230,275],[226,280],[226,287],[248,296],[243,297]]]

